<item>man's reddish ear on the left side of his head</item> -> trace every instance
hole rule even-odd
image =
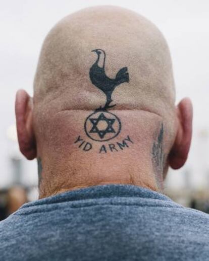
[[[36,142],[32,126],[33,98],[26,91],[16,94],[15,114],[20,151],[28,159],[36,157]]]

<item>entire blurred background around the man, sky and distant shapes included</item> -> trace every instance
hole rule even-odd
[[[0,220],[38,198],[36,161],[20,154],[15,94],[33,95],[41,44],[64,16],[95,5],[129,8],[151,20],[170,46],[177,103],[189,96],[194,132],[185,166],[170,170],[165,193],[174,201],[209,213],[209,1],[207,0],[1,0],[0,9]]]

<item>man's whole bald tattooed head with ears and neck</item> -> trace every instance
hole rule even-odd
[[[191,141],[188,99],[175,106],[161,32],[117,7],[82,10],[47,35],[34,99],[16,100],[21,152],[38,159],[39,197],[89,185],[163,189]]]

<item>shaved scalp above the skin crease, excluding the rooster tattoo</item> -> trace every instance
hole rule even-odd
[[[117,108],[173,110],[172,64],[161,32],[142,16],[117,7],[88,8],[67,16],[47,35],[34,81],[36,101],[60,97],[60,108],[95,109],[106,100],[92,86],[89,69],[106,52],[106,74],[127,67],[129,83],[113,93]],[[62,96],[60,96],[62,94]]]

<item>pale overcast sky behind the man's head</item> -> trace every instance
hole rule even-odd
[[[129,8],[151,20],[163,32],[173,59],[177,101],[189,96],[194,105],[193,143],[184,169],[193,168],[198,175],[208,172],[208,139],[202,133],[209,129],[209,1],[1,0],[0,3],[0,186],[8,183],[12,172],[9,156],[15,145],[6,133],[15,123],[15,93],[23,88],[32,95],[33,77],[45,35],[64,16],[95,5]],[[25,162],[25,172],[29,179],[36,180],[35,162]]]

